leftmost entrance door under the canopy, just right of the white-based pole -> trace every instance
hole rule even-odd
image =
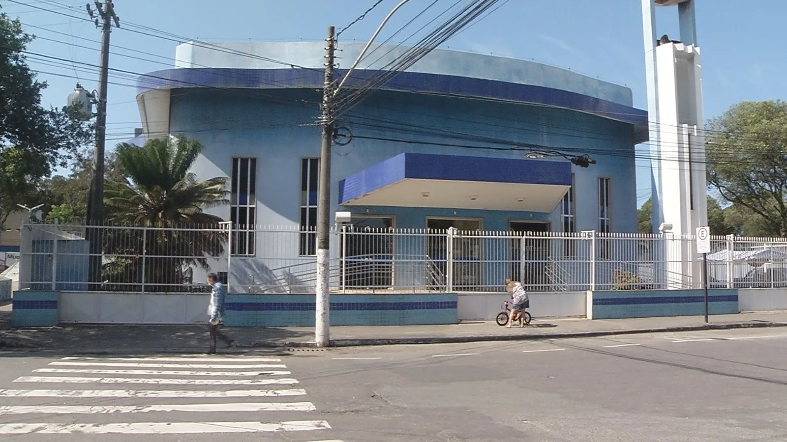
[[[353,216],[344,238],[342,282],[346,288],[393,286],[392,228],[392,216]]]

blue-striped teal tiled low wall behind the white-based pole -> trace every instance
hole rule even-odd
[[[331,295],[331,326],[456,324],[456,294]],[[314,326],[315,296],[227,295],[229,327]]]

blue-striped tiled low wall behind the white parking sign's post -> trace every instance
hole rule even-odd
[[[704,314],[702,290],[613,290],[587,292],[588,319],[652,318]],[[708,290],[709,315],[739,313],[737,289]]]

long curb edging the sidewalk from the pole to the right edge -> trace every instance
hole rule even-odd
[[[696,326],[653,327],[648,329],[586,331],[549,334],[520,335],[478,335],[478,336],[446,336],[446,337],[393,337],[368,339],[336,339],[331,340],[331,347],[369,347],[378,345],[418,345],[418,344],[462,344],[467,342],[490,341],[538,341],[545,339],[567,339],[572,337],[602,337],[621,334],[686,332],[701,330],[732,330],[764,327],[785,327],[787,322],[728,322],[724,324],[700,324]],[[314,342],[262,342],[252,344],[253,348],[316,348]]]

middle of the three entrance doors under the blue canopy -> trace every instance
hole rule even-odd
[[[453,240],[453,288],[462,292],[473,292],[481,289],[481,238],[473,238],[481,231],[480,219],[461,218],[427,218],[427,229],[448,230],[450,227],[459,230],[460,235]],[[427,237],[427,254],[435,261],[442,274],[447,266],[447,238],[445,234]]]

